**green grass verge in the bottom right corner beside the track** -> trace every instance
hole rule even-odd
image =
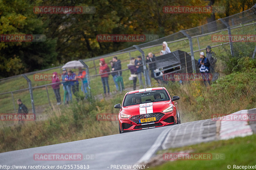
[[[217,155],[224,155],[224,159],[217,160],[167,160],[164,164],[154,166],[151,163],[148,170],[215,170],[215,169],[228,169],[228,165],[231,166],[230,169],[235,169],[233,166],[255,166],[256,160],[256,135],[251,135],[247,137],[236,137],[229,140],[214,141],[209,143],[201,143],[191,146],[185,146],[182,148],[169,149],[166,151],[158,152],[160,159],[163,159],[164,153],[179,153],[179,152],[191,152],[191,154],[198,153],[209,153],[215,158],[219,158]],[[211,158],[213,158],[211,157]],[[170,158],[170,157],[166,157]],[[248,167],[249,169],[249,167]]]

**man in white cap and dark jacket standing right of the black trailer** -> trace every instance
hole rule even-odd
[[[197,66],[199,67],[200,73],[202,73],[202,77],[204,80],[204,85],[206,85],[206,80],[211,85],[209,77],[207,76],[210,71],[210,61],[208,58],[204,56],[204,52],[200,53],[200,59],[198,60]],[[204,79],[206,77],[206,80]]]

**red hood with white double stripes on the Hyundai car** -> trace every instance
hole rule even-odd
[[[125,106],[122,107],[121,111],[124,114],[128,115],[142,115],[142,114],[150,114],[162,112],[164,109],[170,107],[172,105],[171,101],[157,101],[157,102],[149,102],[142,103],[138,105]],[[175,107],[175,105],[173,105]]]

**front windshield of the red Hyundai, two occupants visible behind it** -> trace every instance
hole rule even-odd
[[[158,102],[170,100],[167,92],[163,90],[152,90],[147,92],[138,92],[127,94],[124,99],[123,106],[138,105],[141,103]]]

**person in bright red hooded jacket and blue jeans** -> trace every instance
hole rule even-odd
[[[108,64],[105,63],[105,59],[101,58],[100,59],[100,71],[99,74],[101,74],[101,82],[103,85],[103,89],[104,89],[104,95],[106,96],[106,85],[108,88],[108,95],[109,95],[109,85],[108,85],[108,72],[110,72],[110,69],[108,67]],[[106,73],[106,74],[103,74]]]

